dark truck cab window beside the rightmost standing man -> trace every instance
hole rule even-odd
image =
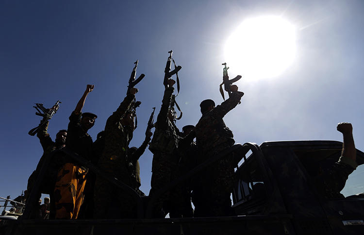
[[[252,155],[238,168],[235,176],[236,183],[232,193],[234,204],[266,197],[263,177]]]

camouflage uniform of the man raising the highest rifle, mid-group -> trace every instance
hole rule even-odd
[[[149,198],[159,189],[170,183],[171,171],[174,171],[178,164],[175,151],[181,138],[179,136],[180,131],[174,122],[168,118],[173,91],[174,87],[165,88],[162,107],[157,117],[153,138],[149,145],[149,150],[153,153]],[[169,192],[166,192],[158,199],[153,209],[154,217],[165,217],[169,210],[168,200]]]

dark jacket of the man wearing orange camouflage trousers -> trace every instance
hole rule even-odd
[[[83,158],[91,160],[92,137],[81,127],[81,116],[81,112],[80,114],[75,114],[74,111],[69,116],[66,147],[81,155]],[[71,159],[69,161],[73,162]]]

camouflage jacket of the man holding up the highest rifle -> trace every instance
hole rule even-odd
[[[172,101],[173,91],[174,87],[165,88],[162,107],[159,111],[153,138],[149,145],[149,150],[152,153],[164,152],[171,154],[178,148],[178,141],[181,138],[180,131],[174,122],[170,121],[168,118],[168,111]]]

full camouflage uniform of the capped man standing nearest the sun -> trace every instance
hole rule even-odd
[[[232,131],[222,118],[232,110],[244,95],[232,92],[229,99],[205,113],[196,125],[196,142],[201,155],[199,164],[231,147],[235,141]],[[232,155],[217,161],[199,175],[193,190],[195,216],[225,216],[232,214],[230,194],[233,186],[234,163]]]

